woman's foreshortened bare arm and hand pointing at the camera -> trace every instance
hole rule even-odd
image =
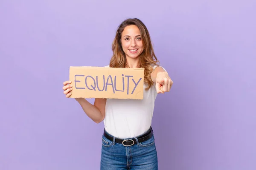
[[[167,71],[165,71],[162,67],[157,67],[154,69],[154,71],[152,71],[151,79],[156,84],[157,93],[170,91],[173,84]]]

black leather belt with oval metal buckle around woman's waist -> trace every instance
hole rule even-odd
[[[107,139],[109,139],[109,140],[111,140],[111,141],[113,142],[114,138],[113,138],[112,136],[109,136],[109,135],[105,132],[105,130],[104,130],[104,133],[103,133],[103,134],[104,134],[104,136],[105,136]],[[152,136],[153,136],[153,130],[152,130],[152,128],[150,127],[149,130],[148,130],[144,135],[138,137],[137,139],[138,139],[138,141],[139,141],[139,143],[140,143],[140,142],[144,142],[144,141],[150,139]],[[124,146],[132,146],[132,145],[134,145],[135,143],[137,143],[136,139],[119,139],[119,138],[116,138],[116,139],[115,139],[115,142],[116,142],[116,143],[119,143],[119,144],[122,144],[122,145],[124,145]]]

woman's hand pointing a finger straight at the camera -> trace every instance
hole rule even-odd
[[[156,89],[157,93],[162,93],[170,91],[172,87],[172,79],[169,77],[166,71],[157,73],[156,78]]]

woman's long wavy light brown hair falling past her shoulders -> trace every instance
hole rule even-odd
[[[125,65],[127,65],[125,53],[122,50],[121,35],[124,28],[130,25],[135,25],[140,29],[144,50],[139,56],[139,65],[140,68],[144,68],[144,83],[146,84],[145,90],[148,90],[151,85],[154,84],[151,79],[151,73],[153,71],[152,65],[158,65],[157,62],[159,61],[154,54],[148,29],[141,20],[137,18],[129,18],[119,25],[112,43],[113,56],[111,57],[109,67],[125,68]]]

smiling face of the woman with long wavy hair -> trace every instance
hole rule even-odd
[[[126,26],[121,34],[122,49],[126,57],[137,58],[144,50],[140,29],[135,26]]]

